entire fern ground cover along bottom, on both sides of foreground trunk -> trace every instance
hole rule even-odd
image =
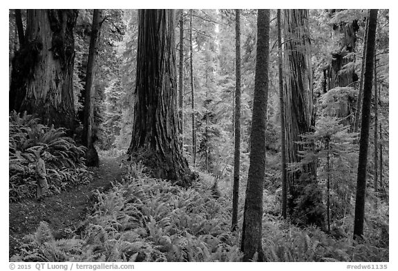
[[[241,261],[239,231],[230,231],[231,199],[223,193],[214,197],[209,175],[201,173],[184,189],[149,177],[140,163],[124,166],[120,183],[95,194],[79,230],[68,239],[55,239],[43,221],[11,261]],[[272,204],[274,199],[266,196],[265,210]],[[239,214],[241,220],[243,205]],[[376,220],[370,218],[374,232],[359,244],[349,234],[352,221],[339,221],[337,238],[265,214],[265,260],[388,261],[388,235],[378,232],[383,228],[377,228]]]

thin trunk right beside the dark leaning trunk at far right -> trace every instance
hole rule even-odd
[[[378,136],[379,136],[379,112],[378,112],[378,106],[379,106],[379,97],[377,96],[377,59],[376,59],[376,51],[375,51],[375,63],[374,63],[374,71],[375,71],[375,78],[373,78],[373,88],[375,90],[375,126],[374,126],[374,132],[375,132],[375,142],[374,142],[374,169],[375,169],[375,175],[374,175],[374,185],[375,185],[375,210],[377,210],[377,201],[378,201],[378,190],[379,190],[379,175],[378,175],[378,165],[379,165],[379,159],[378,159],[378,154],[379,152],[377,149],[379,148],[379,141],[378,141]]]

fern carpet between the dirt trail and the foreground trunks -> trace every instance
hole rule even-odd
[[[227,199],[209,186],[193,188],[151,179],[140,164],[97,202],[82,236],[55,240],[46,223],[28,237],[15,261],[239,261]],[[67,257],[66,257],[67,255]]]

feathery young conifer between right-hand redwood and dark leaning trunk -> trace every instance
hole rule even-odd
[[[332,90],[330,90],[332,91]],[[301,170],[307,163],[316,161],[316,177],[323,191],[323,205],[329,192],[332,219],[341,219],[352,210],[351,196],[354,191],[358,150],[358,134],[348,132],[349,126],[342,124],[343,119],[338,117],[319,117],[316,121],[315,132],[303,134],[303,150],[299,152],[301,161],[290,165],[290,170]],[[308,142],[312,144],[308,145]],[[328,163],[329,159],[329,163]],[[330,181],[330,190],[327,182]],[[303,197],[312,193],[307,188]],[[297,201],[303,201],[299,198]],[[298,203],[299,203],[298,202]],[[308,210],[309,212],[311,210]]]

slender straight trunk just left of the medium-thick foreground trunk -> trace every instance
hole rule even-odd
[[[232,230],[238,225],[239,176],[240,176],[240,10],[235,10],[235,152],[234,188],[232,192]]]

